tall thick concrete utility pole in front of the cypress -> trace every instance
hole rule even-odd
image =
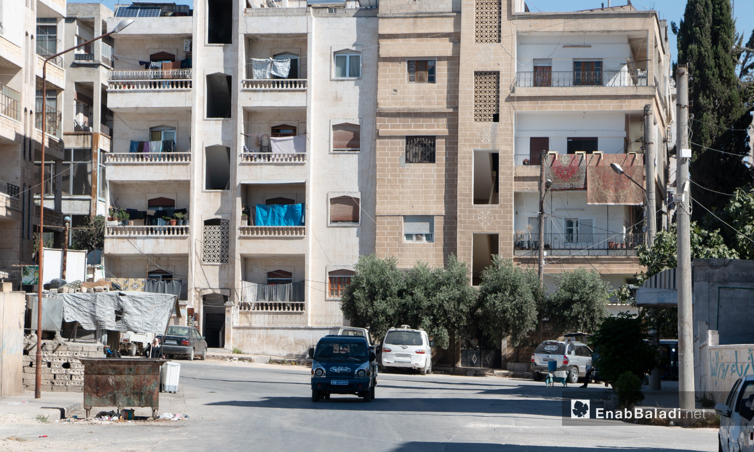
[[[688,188],[688,68],[678,66],[676,72],[676,221],[678,227],[678,390],[682,410],[693,410],[694,347],[693,313],[691,310],[691,191]]]

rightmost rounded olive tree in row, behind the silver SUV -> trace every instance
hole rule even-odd
[[[556,277],[550,296],[550,320],[563,330],[590,333],[607,315],[610,286],[594,270],[577,268]]]

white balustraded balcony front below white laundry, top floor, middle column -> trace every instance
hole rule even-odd
[[[244,107],[305,107],[307,87],[302,78],[244,79],[238,99]]]

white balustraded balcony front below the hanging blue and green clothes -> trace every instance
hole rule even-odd
[[[110,181],[187,181],[191,152],[104,154]]]

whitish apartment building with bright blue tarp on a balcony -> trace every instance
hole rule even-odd
[[[330,3],[134,2],[108,20],[135,22],[102,95],[108,202],[133,221],[109,223],[106,268],[180,279],[177,321],[210,347],[305,353],[374,252],[377,10]]]

